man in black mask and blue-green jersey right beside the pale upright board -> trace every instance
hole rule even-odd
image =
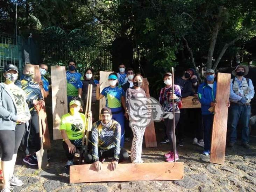
[[[76,61],[69,60],[67,63],[69,66],[69,70],[66,72],[67,77],[67,103],[71,101],[72,97],[79,97],[82,96],[82,88],[83,83],[81,80],[83,80],[83,76],[76,71]],[[68,107],[69,111],[69,107]]]

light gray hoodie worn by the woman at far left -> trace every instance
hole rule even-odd
[[[0,130],[15,130],[18,120],[13,94],[0,83]]]

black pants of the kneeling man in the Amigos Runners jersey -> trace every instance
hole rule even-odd
[[[129,154],[125,148],[120,147],[120,156],[119,156],[119,161],[128,161],[129,159]],[[101,151],[100,148],[98,148],[98,156],[99,159],[107,158],[107,157],[114,157],[114,152],[115,148],[111,148],[107,151]],[[92,163],[92,151],[85,156],[85,162],[86,163]]]

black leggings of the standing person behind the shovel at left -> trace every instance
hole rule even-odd
[[[30,154],[29,148],[29,137],[32,137],[32,143],[34,144],[35,151],[40,150],[40,138],[39,138],[39,122],[38,122],[38,114],[36,111],[31,112],[31,119],[29,121],[28,131],[24,132],[21,146],[23,151],[25,151],[25,155]]]

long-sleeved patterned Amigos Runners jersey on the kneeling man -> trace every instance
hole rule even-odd
[[[93,161],[99,161],[98,150],[104,152],[115,148],[114,159],[118,160],[120,155],[121,126],[112,119],[109,127],[104,127],[101,120],[92,125],[92,157]]]

